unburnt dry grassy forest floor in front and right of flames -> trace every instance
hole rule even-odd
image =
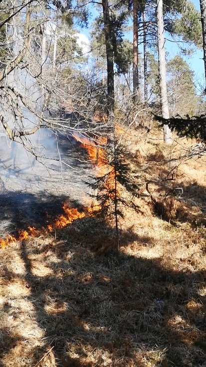
[[[120,253],[96,218],[0,249],[0,367],[206,366],[206,156],[160,133],[127,131]]]

